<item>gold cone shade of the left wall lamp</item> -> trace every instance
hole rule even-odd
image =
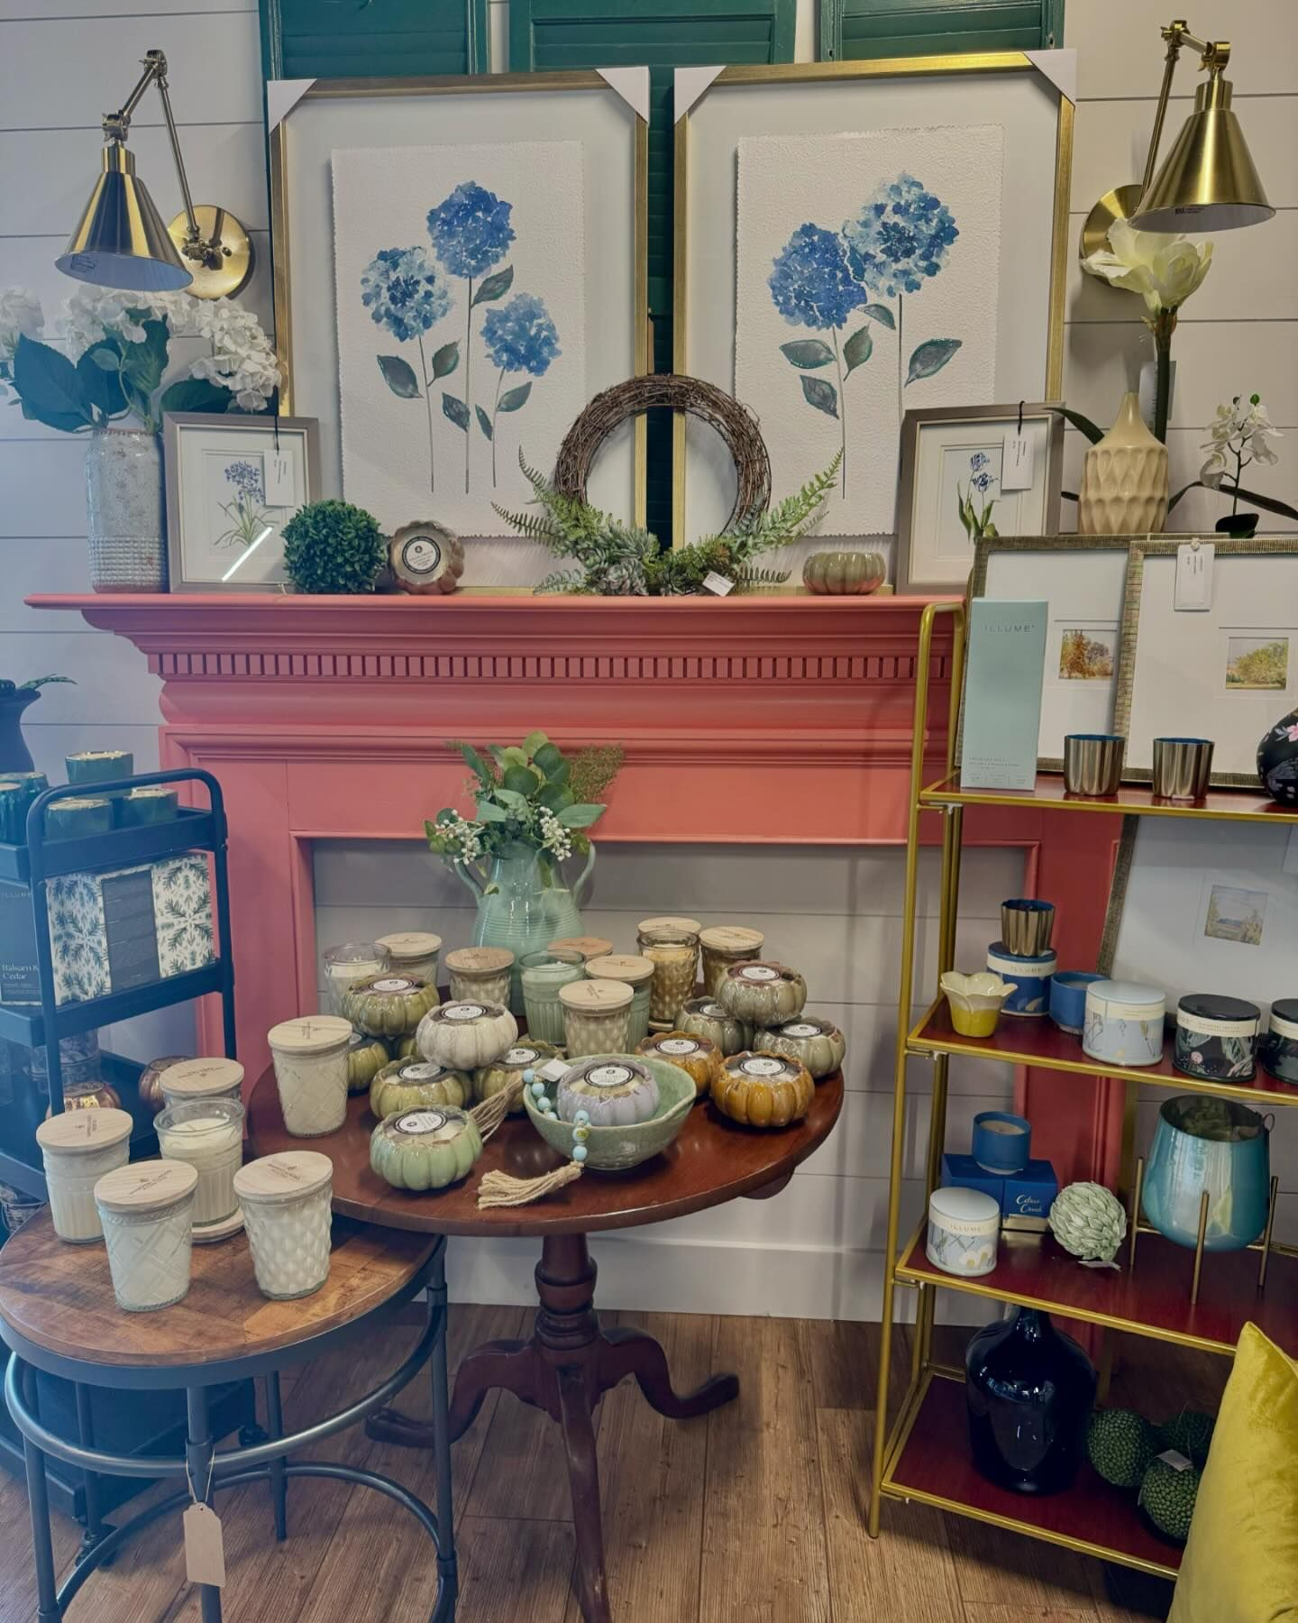
[[[54,263],[81,282],[135,292],[175,292],[193,281],[120,141],[104,146],[104,174]]]

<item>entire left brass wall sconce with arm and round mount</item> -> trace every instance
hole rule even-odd
[[[54,261],[60,271],[101,287],[136,292],[175,292],[188,287],[198,299],[237,294],[253,273],[253,245],[234,214],[209,203],[195,206],[180,138],[167,94],[167,58],[149,50],[140,83],[118,112],[104,114],[104,172],[91,200]],[[149,84],[157,86],[167,136],[185,208],[170,226],[154,208],[144,182],[136,179],[135,157],[127,151],[131,114]]]

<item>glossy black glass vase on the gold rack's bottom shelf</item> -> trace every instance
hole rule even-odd
[[[965,1349],[969,1441],[978,1470],[1017,1493],[1058,1493],[1077,1472],[1095,1367],[1047,1313],[1017,1308]]]

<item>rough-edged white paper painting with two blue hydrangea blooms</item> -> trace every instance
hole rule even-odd
[[[907,407],[991,399],[1003,148],[993,123],[738,143],[735,394],[777,492],[840,453],[823,534],[892,532]]]

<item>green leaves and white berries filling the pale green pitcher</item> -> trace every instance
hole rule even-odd
[[[539,854],[544,885],[555,863],[591,849],[586,834],[605,812],[599,799],[621,768],[617,743],[592,745],[571,760],[544,732],[529,732],[521,745],[449,742],[474,774],[467,789],[474,816],[443,807],[423,824],[428,849],[456,863],[477,863],[506,846],[531,846]],[[485,875],[484,875],[485,878]]]

